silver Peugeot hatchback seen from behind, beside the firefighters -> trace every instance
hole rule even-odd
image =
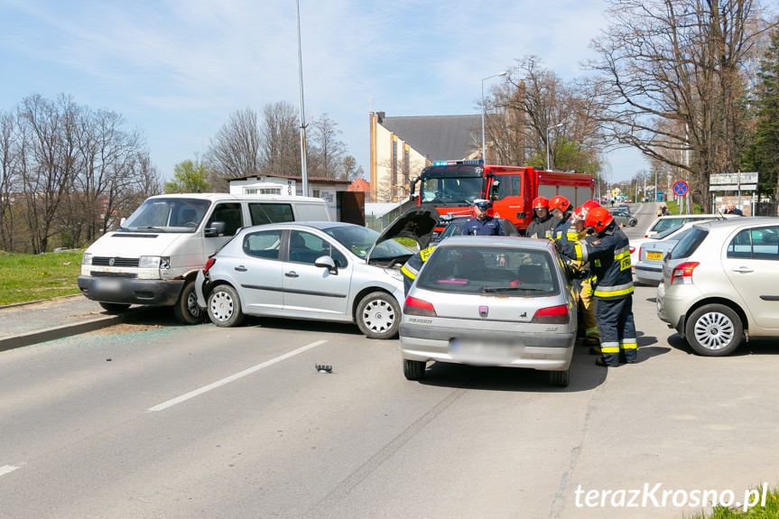
[[[412,285],[400,327],[403,375],[429,361],[529,367],[566,386],[577,330],[570,275],[547,240],[453,236]]]

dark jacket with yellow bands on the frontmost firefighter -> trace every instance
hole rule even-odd
[[[589,262],[589,268],[597,278],[593,280],[592,288],[593,295],[598,299],[624,298],[633,293],[630,242],[614,223],[583,241],[558,240],[556,243],[562,254],[570,259]]]

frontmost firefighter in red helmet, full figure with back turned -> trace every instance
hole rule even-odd
[[[637,344],[629,241],[606,208],[589,210],[584,224],[593,229],[593,234],[573,244],[565,240],[556,240],[555,244],[571,259],[589,261],[597,276],[592,288],[598,301],[595,315],[602,353],[596,364],[635,363]]]

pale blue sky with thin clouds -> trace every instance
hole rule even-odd
[[[482,79],[529,55],[574,79],[606,23],[605,0],[299,5],[307,122],[328,114],[366,175],[372,110],[478,114]],[[237,110],[300,110],[295,1],[0,0],[0,70],[0,111],[33,94],[107,108],[144,133],[167,180]],[[632,150],[606,158],[609,181],[648,169]]]

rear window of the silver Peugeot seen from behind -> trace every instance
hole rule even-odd
[[[439,246],[417,279],[425,290],[535,297],[560,293],[547,251],[516,247]]]

